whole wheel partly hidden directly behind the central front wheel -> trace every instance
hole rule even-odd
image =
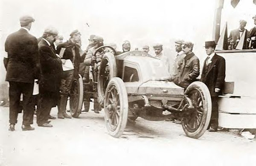
[[[116,59],[112,53],[105,53],[102,57],[102,61],[99,67],[98,74],[98,96],[99,103],[103,104],[105,91],[108,85],[108,82],[116,77]]]

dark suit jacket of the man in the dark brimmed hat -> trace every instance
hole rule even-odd
[[[212,62],[208,66],[208,70],[206,69],[206,60],[204,61],[204,67],[200,81],[207,85],[211,96],[218,96],[221,95],[221,92],[215,93],[215,88],[219,88],[221,91],[223,90],[226,76],[226,62],[222,56],[218,56],[216,53],[212,57],[211,61]]]

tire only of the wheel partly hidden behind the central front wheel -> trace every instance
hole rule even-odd
[[[102,60],[100,62],[99,66],[99,74],[98,74],[98,102],[101,104],[102,100],[105,97],[105,91],[103,87],[103,78],[101,76],[102,74],[102,67],[104,67],[107,63],[109,63],[109,80],[117,76],[117,68],[116,68],[116,59],[115,56],[112,53],[105,53],[102,57]]]

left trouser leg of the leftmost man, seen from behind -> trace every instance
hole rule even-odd
[[[19,82],[9,82],[9,85],[9,122],[10,124],[16,124],[20,105],[21,89],[19,87]]]

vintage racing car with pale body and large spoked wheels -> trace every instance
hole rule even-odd
[[[110,48],[112,51],[102,51]],[[105,124],[113,137],[120,137],[128,118],[149,121],[179,118],[187,136],[199,138],[207,130],[211,117],[211,97],[202,82],[192,82],[184,88],[169,81],[169,72],[163,62],[143,51],[129,51],[115,56],[110,46],[102,46],[102,61],[97,75],[98,101],[104,108]],[[96,70],[95,70],[96,71]],[[78,86],[79,87],[79,86]],[[81,89],[81,83],[80,88]],[[81,93],[81,92],[80,92]],[[76,95],[78,106],[82,96]],[[71,114],[81,113],[73,109]],[[163,115],[163,111],[170,114]]]

